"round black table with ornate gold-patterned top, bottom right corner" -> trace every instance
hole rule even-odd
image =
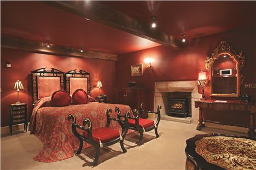
[[[186,169],[256,169],[255,138],[198,134],[186,143]]]

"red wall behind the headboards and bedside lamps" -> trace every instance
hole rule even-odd
[[[11,68],[5,67],[6,62],[11,63]],[[108,102],[114,100],[115,61],[35,54],[1,48],[1,126],[8,125],[9,104],[17,100],[17,91],[14,90],[16,80],[21,80],[27,90],[20,91],[20,101],[27,103],[30,118],[32,113],[30,72],[42,67],[56,68],[62,72],[83,69],[91,74],[91,85],[94,87],[91,96],[96,97],[104,93],[108,97]],[[103,85],[100,90],[95,88],[98,80],[101,80]]]

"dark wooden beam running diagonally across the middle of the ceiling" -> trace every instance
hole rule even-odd
[[[161,32],[158,28],[153,29],[149,25],[142,24],[129,15],[97,1],[44,1],[44,3],[153,42],[169,45],[176,50],[182,48],[181,40]]]

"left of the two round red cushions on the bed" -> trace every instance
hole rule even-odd
[[[71,102],[71,97],[68,92],[59,90],[55,91],[51,96],[51,102],[53,102],[54,106],[66,106]]]

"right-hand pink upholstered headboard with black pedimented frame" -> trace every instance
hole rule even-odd
[[[73,94],[73,92],[77,89],[83,89],[90,95],[91,87],[90,87],[90,73],[85,72],[83,70],[76,71],[76,69],[65,73],[66,80],[66,91],[69,94]]]

